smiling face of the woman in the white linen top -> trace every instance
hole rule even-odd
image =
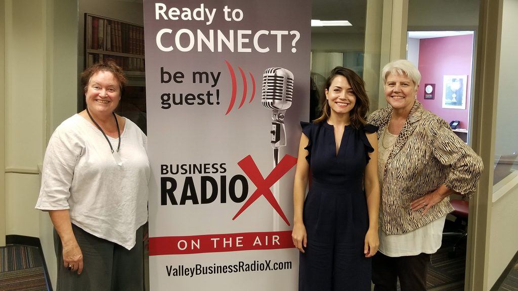
[[[121,86],[111,72],[99,71],[90,78],[84,95],[90,112],[111,114],[119,105]]]

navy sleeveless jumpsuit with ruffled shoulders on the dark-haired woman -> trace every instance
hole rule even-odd
[[[299,291],[370,291],[371,259],[364,254],[369,227],[363,190],[368,153],[367,133],[377,127],[346,126],[336,154],[333,125],[301,122],[308,137],[310,189],[303,220],[308,243],[300,253]]]

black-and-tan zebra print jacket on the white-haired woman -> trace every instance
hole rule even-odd
[[[379,126],[378,139],[388,125],[392,107],[370,114]],[[410,202],[441,184],[471,197],[483,170],[482,159],[452,131],[450,125],[425,110],[419,101],[408,115],[385,165],[380,224],[387,235],[412,231],[453,211],[450,198],[428,210],[412,211]]]

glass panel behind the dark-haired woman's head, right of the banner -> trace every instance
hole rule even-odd
[[[381,21],[373,19],[373,17],[367,19],[369,14],[367,9],[372,11],[370,15],[381,17],[376,13],[381,13],[383,3],[382,1],[366,0],[313,1],[312,20],[347,20],[351,26],[311,27],[310,120],[314,120],[320,115],[325,80],[329,71],[336,66],[350,68],[360,77],[364,77],[364,71],[375,72],[369,74],[369,77],[372,75],[375,77],[369,78],[369,83],[366,85],[371,101],[371,111],[378,109],[380,47],[377,45],[381,43]],[[367,28],[367,26],[369,27]],[[366,38],[369,37],[371,39],[369,43],[374,43],[374,45],[372,48],[368,48],[369,55],[368,61],[366,61]]]

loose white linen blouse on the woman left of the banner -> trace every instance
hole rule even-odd
[[[114,150],[118,138],[108,137]],[[100,130],[75,114],[50,138],[36,209],[70,209],[71,222],[90,234],[130,250],[148,219],[147,137],[126,119],[119,151],[112,156]]]

